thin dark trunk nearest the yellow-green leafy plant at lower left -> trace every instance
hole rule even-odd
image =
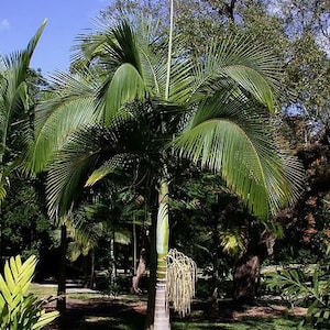
[[[66,226],[61,226],[61,246],[59,246],[59,265],[58,265],[58,278],[57,278],[57,302],[56,309],[61,316],[64,316],[66,311],[66,253],[67,253],[67,230]]]

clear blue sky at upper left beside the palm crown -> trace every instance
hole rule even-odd
[[[96,26],[96,18],[110,0],[0,0],[0,54],[26,47],[44,19],[44,32],[31,67],[43,75],[67,70],[78,34]]]

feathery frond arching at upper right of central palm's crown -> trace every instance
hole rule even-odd
[[[277,58],[263,45],[229,33],[219,43],[211,42],[207,54],[198,58],[194,90],[212,94],[215,85],[228,84],[226,78],[230,78],[274,112],[282,72]]]

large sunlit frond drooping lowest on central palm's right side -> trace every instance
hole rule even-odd
[[[253,103],[229,100],[220,94],[201,105],[173,145],[180,156],[218,172],[254,213],[267,216],[297,198],[301,166],[278,152],[267,119],[252,113]]]

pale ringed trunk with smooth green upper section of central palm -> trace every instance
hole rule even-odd
[[[166,255],[168,253],[168,183],[163,179],[158,195],[156,228],[157,279],[155,298],[154,330],[169,330],[169,310],[166,293]]]

